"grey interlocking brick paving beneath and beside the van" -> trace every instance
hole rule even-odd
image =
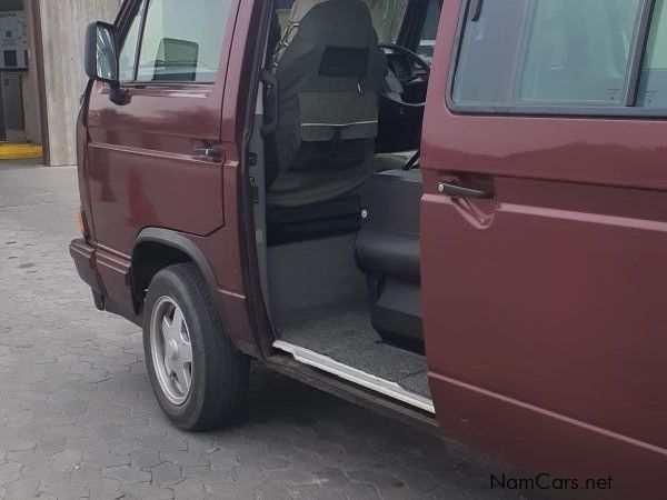
[[[0,163],[0,499],[516,499],[489,462],[255,370],[247,419],[160,413],[140,331],[97,312],[67,253],[76,170]]]

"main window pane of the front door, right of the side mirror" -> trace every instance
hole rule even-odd
[[[150,0],[138,81],[216,80],[231,0]]]

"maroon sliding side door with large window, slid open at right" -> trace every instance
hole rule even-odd
[[[424,127],[441,427],[654,498],[639,492],[667,470],[667,88],[626,71],[648,39],[649,73],[663,2],[461,3],[442,16]]]

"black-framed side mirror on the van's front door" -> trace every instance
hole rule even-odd
[[[93,22],[86,30],[86,73],[93,80],[118,84],[116,29]]]

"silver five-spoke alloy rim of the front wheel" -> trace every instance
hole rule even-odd
[[[186,318],[170,297],[162,297],[153,308],[150,347],[162,392],[172,404],[185,404],[192,389],[192,343]]]

